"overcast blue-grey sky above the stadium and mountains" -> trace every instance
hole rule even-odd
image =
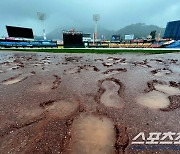
[[[45,12],[47,32],[58,27],[93,27],[92,16],[100,14],[99,25],[109,30],[143,22],[165,27],[180,20],[180,0],[0,0],[0,36],[5,25],[33,28],[41,35],[37,12]]]

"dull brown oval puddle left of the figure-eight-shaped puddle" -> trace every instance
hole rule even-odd
[[[66,117],[71,115],[78,108],[78,103],[72,103],[64,100],[53,102],[52,105],[46,106],[46,110],[52,116]]]

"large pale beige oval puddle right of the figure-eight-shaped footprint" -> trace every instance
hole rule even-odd
[[[158,91],[142,94],[137,98],[137,103],[153,109],[163,109],[170,105],[167,95]]]

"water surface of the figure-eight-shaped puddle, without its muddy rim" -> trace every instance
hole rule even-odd
[[[106,91],[102,94],[100,101],[107,107],[122,108],[124,101],[118,95],[119,85],[113,81],[104,81],[102,85]]]

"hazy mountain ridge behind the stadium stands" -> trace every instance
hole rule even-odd
[[[62,40],[62,31],[63,30],[69,30],[70,27],[63,27],[63,28],[57,28],[47,34],[48,39],[60,39]],[[83,33],[91,33],[94,32],[94,28],[75,28],[76,31],[82,31]],[[102,38],[102,36],[105,39],[110,40],[112,35],[121,35],[121,38],[124,39],[124,36],[127,34],[134,34],[135,38],[147,38],[147,36],[151,33],[151,31],[156,30],[156,37],[159,33],[161,33],[161,37],[164,35],[165,28],[161,28],[155,25],[146,25],[144,23],[137,23],[132,24],[129,26],[126,26],[118,31],[113,30],[107,30],[102,27],[99,27],[98,29],[98,36],[99,38]],[[42,38],[41,36],[36,36],[35,38]]]

